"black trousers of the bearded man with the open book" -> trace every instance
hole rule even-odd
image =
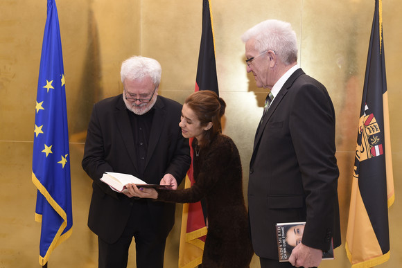
[[[153,228],[145,200],[134,202],[128,224],[117,242],[108,244],[98,237],[98,267],[127,267],[128,249],[133,237],[137,268],[163,268],[166,237],[161,237]]]

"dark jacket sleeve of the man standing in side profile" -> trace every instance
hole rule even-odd
[[[334,202],[338,202],[335,112],[322,84],[306,84],[297,90],[290,134],[306,197],[302,242],[326,251],[333,235]]]

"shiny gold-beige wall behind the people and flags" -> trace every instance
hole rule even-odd
[[[159,93],[182,102],[195,85],[201,0],[57,0],[69,113],[73,235],[52,253],[49,267],[96,267],[97,240],[87,228],[91,180],[80,166],[91,106],[121,92],[120,64],[130,55],[154,57],[162,66]],[[212,0],[220,96],[227,102],[225,134],[241,152],[244,186],[265,91],[245,71],[240,35],[265,19],[289,21],[299,39],[299,64],[324,83],[337,114],[337,157],[342,239],[346,233],[358,113],[374,0]],[[390,97],[396,202],[390,208],[391,258],[402,257],[399,178],[402,175],[402,2],[383,1],[383,32]],[[0,267],[37,267],[40,224],[30,181],[35,96],[46,1],[0,3]],[[166,267],[177,266],[181,205],[168,238]],[[130,258],[134,263],[134,255]],[[252,267],[259,267],[254,258]],[[350,267],[344,244],[321,267]]]

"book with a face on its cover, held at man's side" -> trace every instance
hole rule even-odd
[[[288,262],[292,249],[302,242],[306,222],[286,222],[277,224],[279,262]],[[333,244],[329,251],[322,253],[322,260],[333,260]]]

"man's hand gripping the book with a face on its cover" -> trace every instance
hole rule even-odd
[[[322,260],[322,250],[313,249],[300,243],[292,250],[289,262],[295,267],[318,267]]]

